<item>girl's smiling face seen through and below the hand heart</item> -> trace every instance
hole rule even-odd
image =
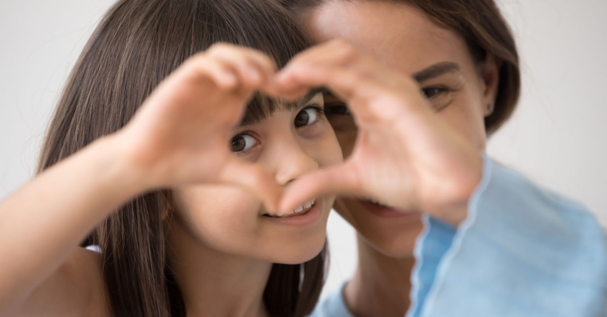
[[[306,100],[308,99],[308,100]],[[231,150],[261,165],[286,186],[300,175],[342,161],[342,153],[323,113],[322,93],[284,106],[267,119],[234,130]],[[318,197],[291,216],[273,218],[262,202],[237,187],[197,185],[175,191],[172,230],[181,239],[230,255],[283,264],[314,258],[325,242],[334,196]]]

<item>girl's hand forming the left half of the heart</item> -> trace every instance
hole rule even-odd
[[[247,102],[275,72],[263,53],[215,44],[164,79],[115,135],[145,189],[234,184],[272,208],[280,193],[274,179],[237,159],[228,145]]]

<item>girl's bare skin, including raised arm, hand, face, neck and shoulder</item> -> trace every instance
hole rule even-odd
[[[123,129],[0,201],[0,250],[12,260],[0,270],[0,315],[110,316],[101,256],[78,244],[132,197],[171,187],[166,243],[188,315],[266,316],[272,262],[319,253],[334,196],[319,196],[307,225],[264,215],[276,215],[281,187],[342,161],[329,122],[308,107],[322,107],[322,95],[281,101],[269,118],[238,125],[275,72],[262,53],[214,45],[168,76]],[[246,151],[226,146],[245,132]]]

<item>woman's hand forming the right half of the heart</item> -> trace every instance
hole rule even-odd
[[[479,150],[432,110],[419,85],[341,40],[296,56],[273,82],[273,93],[296,98],[326,86],[348,104],[359,128],[342,165],[302,176],[280,210],[328,193],[373,199],[458,224],[482,176]]]

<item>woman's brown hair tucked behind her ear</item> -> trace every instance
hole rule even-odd
[[[280,0],[296,15],[328,0]],[[343,0],[351,1],[351,0]],[[364,1],[364,0],[362,0]],[[521,75],[517,45],[506,20],[493,0],[367,0],[406,2],[426,13],[436,24],[455,31],[466,41],[472,57],[484,61],[487,53],[495,56],[500,67],[500,82],[495,108],[485,118],[487,134],[498,130],[517,107]],[[398,27],[398,25],[394,25]]]

